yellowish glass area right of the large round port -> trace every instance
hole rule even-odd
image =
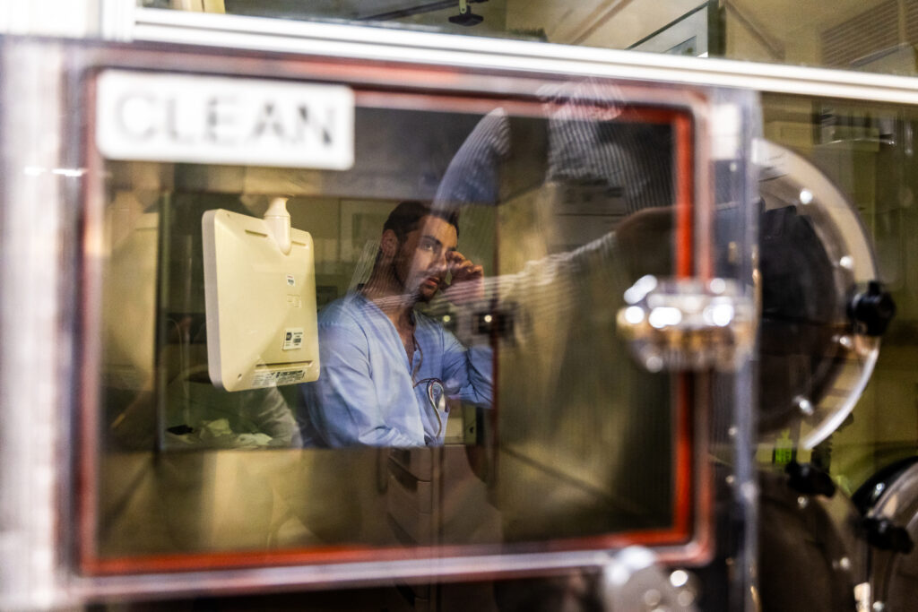
[[[875,250],[878,280],[896,303],[876,369],[851,417],[812,453],[796,451],[799,461],[830,470],[847,493],[914,450],[916,117],[907,106],[763,96],[766,137],[811,161],[854,205]],[[799,437],[799,427],[779,431],[760,459],[772,461],[776,448],[789,448]]]

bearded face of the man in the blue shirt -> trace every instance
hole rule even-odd
[[[456,250],[456,228],[440,217],[421,217],[418,228],[398,245],[393,273],[405,294],[430,301],[446,279],[451,253]]]

